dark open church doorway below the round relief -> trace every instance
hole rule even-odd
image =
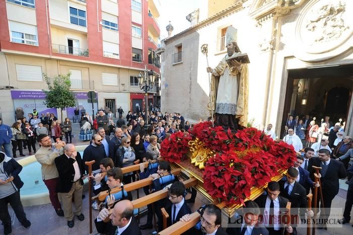
[[[344,123],[345,133],[352,135],[352,92],[353,65],[288,70],[281,134],[290,114],[299,119],[309,115],[319,126],[330,116],[332,125]]]

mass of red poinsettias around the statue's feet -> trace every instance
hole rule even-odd
[[[161,144],[167,161],[180,162],[189,150],[188,142],[198,138],[216,154],[210,157],[203,171],[204,188],[208,194],[226,205],[244,203],[252,187],[262,187],[271,177],[295,161],[291,145],[275,142],[256,128],[239,130],[236,134],[211,122],[194,126],[190,135],[176,133]]]

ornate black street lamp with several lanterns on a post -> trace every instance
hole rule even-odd
[[[139,83],[140,88],[145,92],[145,108],[146,108],[146,120],[145,120],[145,129],[148,126],[148,91],[152,90],[153,84],[155,83],[156,75],[153,70],[147,70],[145,65],[144,73],[139,74]]]

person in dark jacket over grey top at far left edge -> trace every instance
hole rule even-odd
[[[22,166],[17,161],[8,157],[4,152],[0,152],[0,220],[4,224],[6,235],[12,232],[9,203],[22,225],[25,228],[31,226],[31,222],[26,218],[20,198],[20,189],[23,186],[19,177],[21,170]]]

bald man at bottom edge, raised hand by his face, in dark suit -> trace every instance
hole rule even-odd
[[[134,205],[129,200],[122,200],[115,204],[113,213],[109,216],[110,221],[103,220],[109,216],[108,209],[102,209],[95,224],[97,231],[109,235],[141,235],[139,224],[134,216]]]

